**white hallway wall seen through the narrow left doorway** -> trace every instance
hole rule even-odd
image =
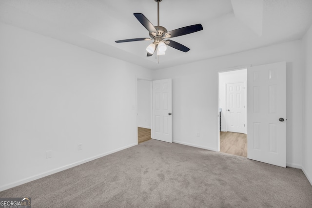
[[[137,80],[137,126],[151,129],[152,82]]]

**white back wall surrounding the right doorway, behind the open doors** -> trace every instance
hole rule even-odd
[[[286,61],[287,166],[302,165],[303,50],[301,41],[178,65],[153,72],[155,79],[173,78],[173,140],[218,150],[217,74],[225,69]],[[177,63],[178,64],[178,63]],[[196,137],[195,132],[200,132]]]

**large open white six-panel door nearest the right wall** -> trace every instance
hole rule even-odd
[[[286,167],[286,63],[250,67],[247,77],[247,157]]]

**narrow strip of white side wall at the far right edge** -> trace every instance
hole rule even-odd
[[[312,26],[303,38],[305,51],[305,102],[302,170],[312,184]]]

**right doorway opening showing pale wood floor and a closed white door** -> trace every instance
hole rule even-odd
[[[247,69],[219,73],[220,151],[247,157]]]

